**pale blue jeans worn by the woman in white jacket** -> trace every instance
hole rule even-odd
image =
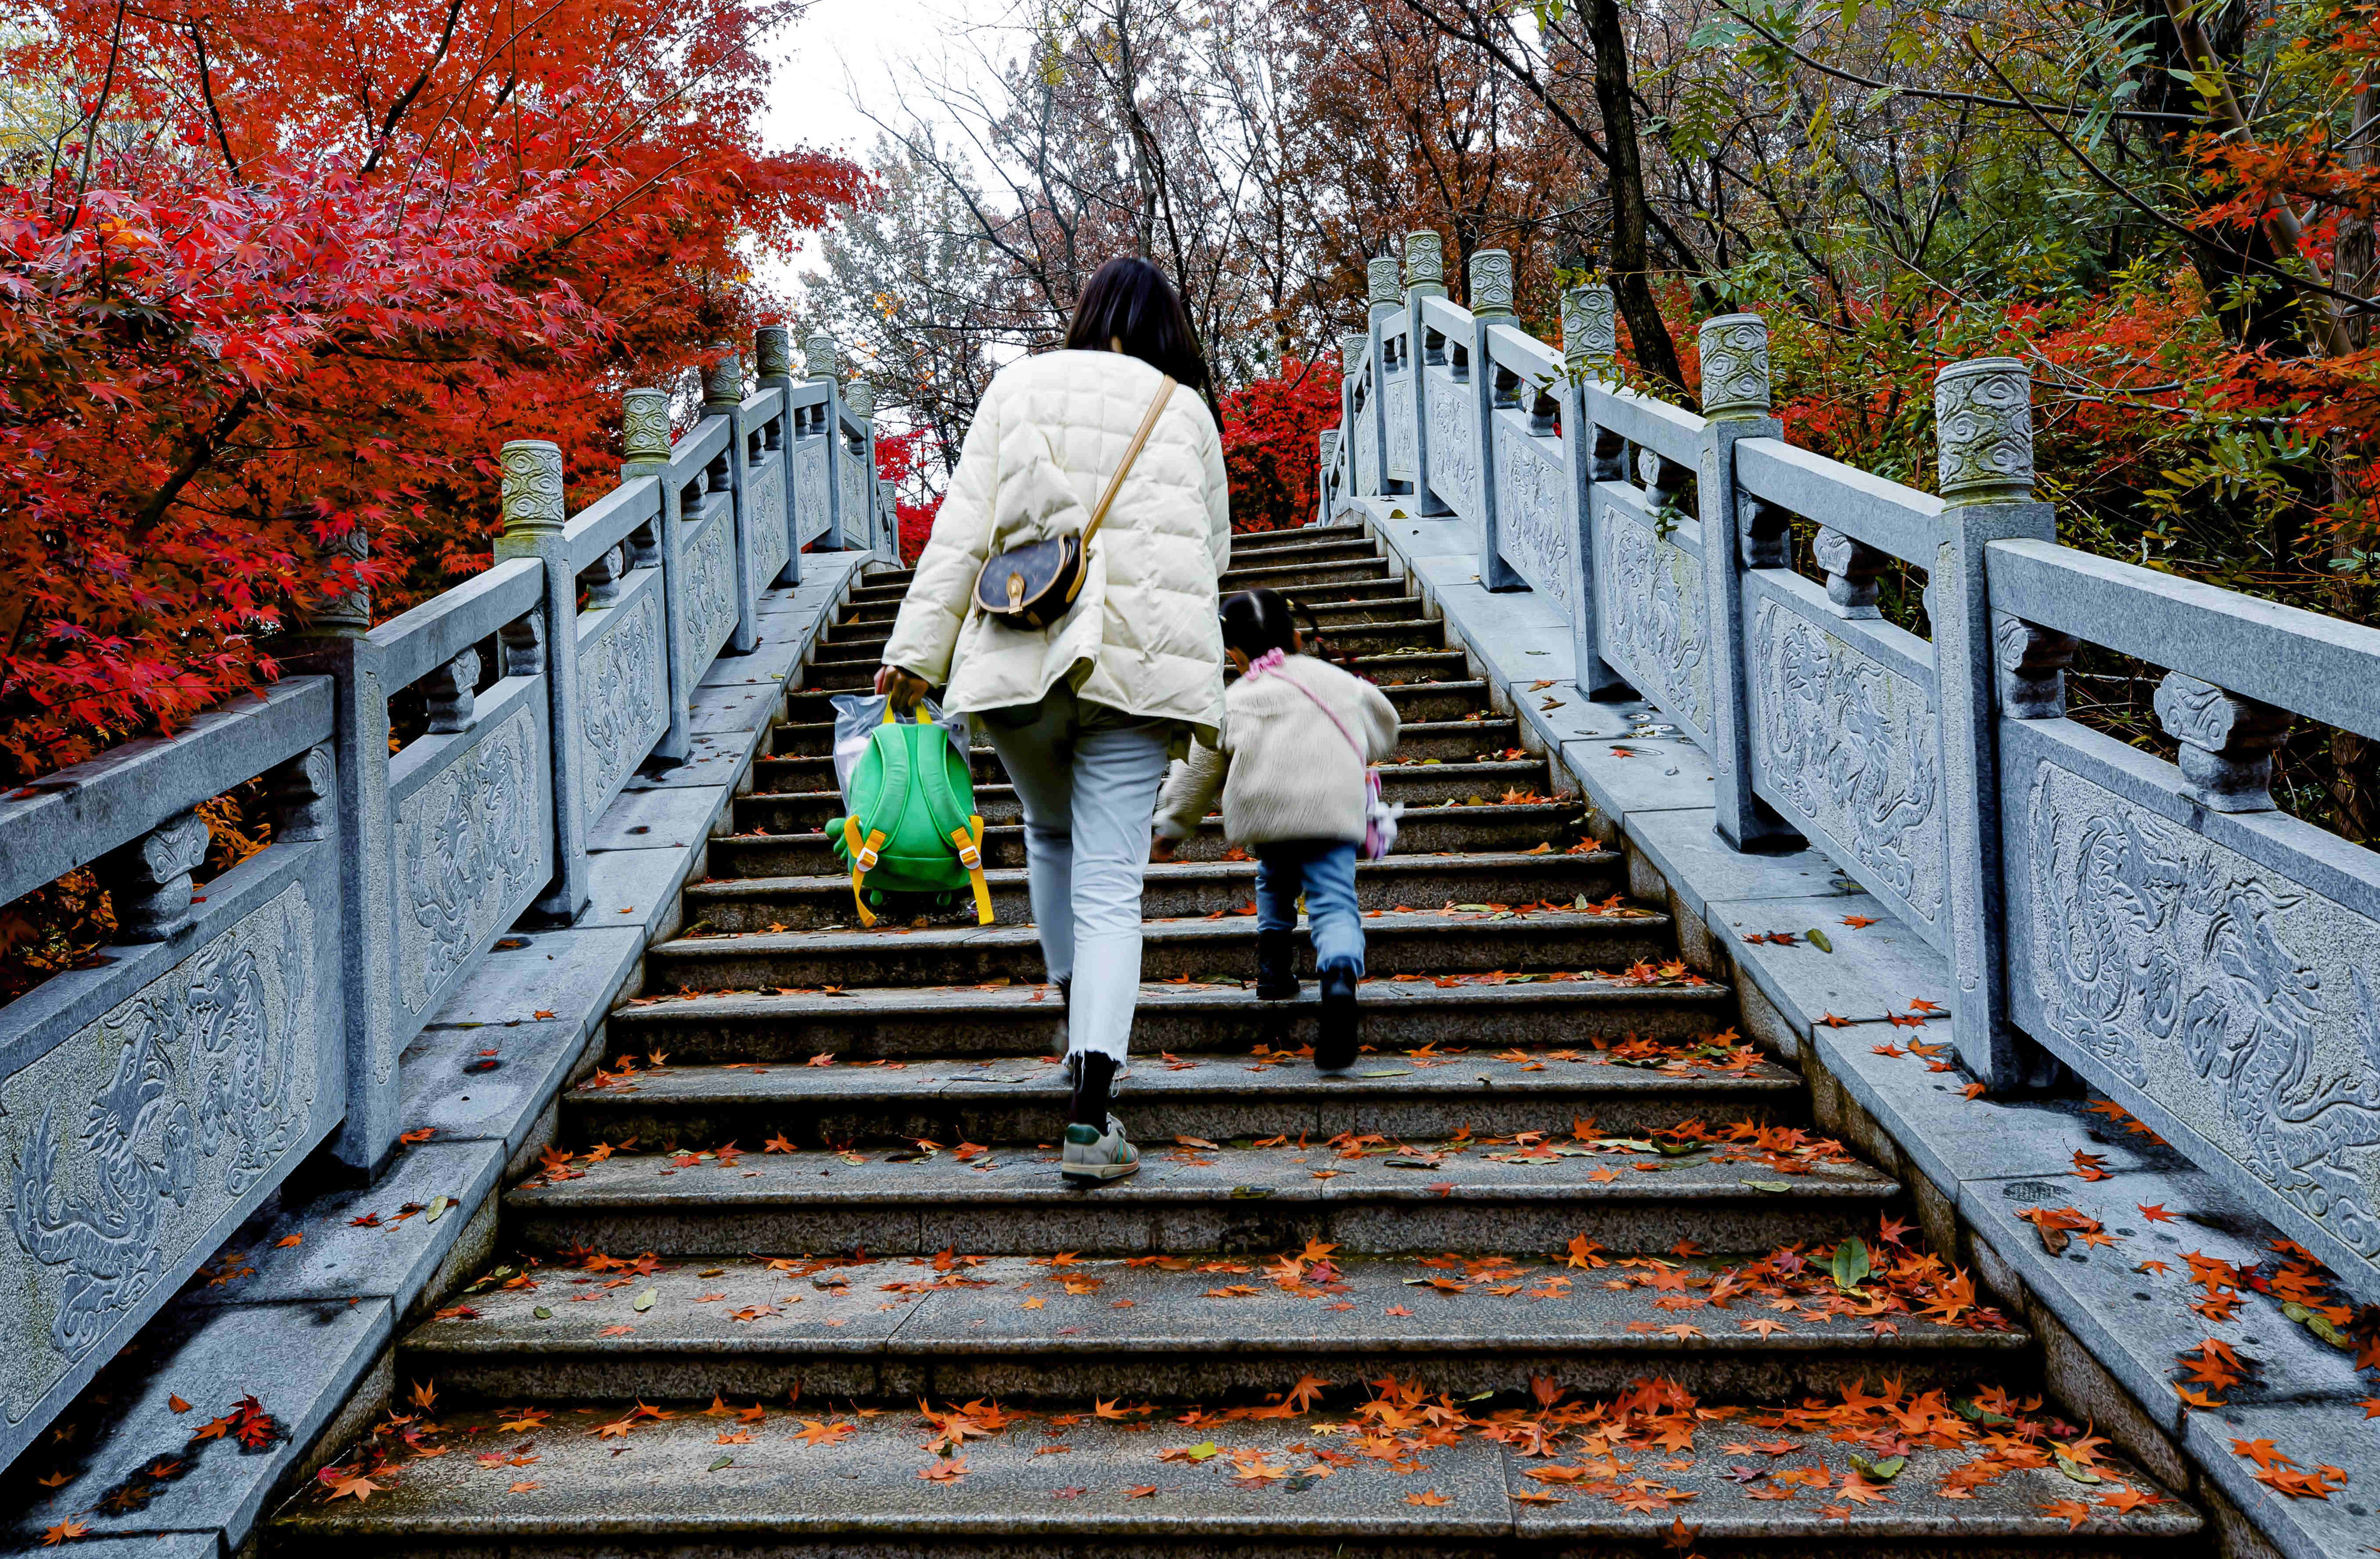
[[[1026,814],[1033,928],[1069,981],[1066,1050],[1123,1064],[1140,1002],[1140,878],[1173,724],[1090,705],[1064,683],[990,709],[983,731]]]

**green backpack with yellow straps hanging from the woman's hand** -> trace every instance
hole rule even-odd
[[[826,824],[826,835],[852,874],[859,923],[873,926],[869,897],[973,888],[976,923],[992,923],[992,890],[983,881],[983,816],[976,785],[950,731],[923,714],[902,724],[892,709],[869,733],[866,752],[843,788],[850,816]]]

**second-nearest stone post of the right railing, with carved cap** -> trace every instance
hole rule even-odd
[[[1711,802],[1733,850],[1790,847],[1799,833],[1752,795],[1752,685],[1745,666],[1745,569],[1754,566],[1752,502],[1735,490],[1735,445],[1783,438],[1768,414],[1768,321],[1702,321],[1702,581],[1711,612]]]

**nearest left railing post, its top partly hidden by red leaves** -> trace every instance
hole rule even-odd
[[[362,526],[331,538],[326,550],[362,564],[369,543]],[[388,683],[381,647],[371,643],[371,593],[352,590],[324,600],[307,624],[300,650],[283,659],[288,671],[331,678],[328,762],[309,764],[312,778],[328,783],[328,819],[317,804],[314,824],[336,828],[340,1004],[347,1057],[347,1107],[331,1152],[345,1173],[371,1178],[397,1147],[397,1040],[395,1040],[395,893],[388,881]],[[312,757],[312,755],[309,755]]]

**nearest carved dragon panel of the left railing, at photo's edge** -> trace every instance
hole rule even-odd
[[[290,883],[0,1083],[0,1121],[33,1123],[10,1166],[24,1259],[5,1269],[24,1331],[7,1335],[31,1340],[48,1314],[50,1342],[0,1350],[10,1423],[300,1147],[317,1088],[319,935],[305,885]],[[62,1128],[74,1100],[88,1100],[81,1126]]]

